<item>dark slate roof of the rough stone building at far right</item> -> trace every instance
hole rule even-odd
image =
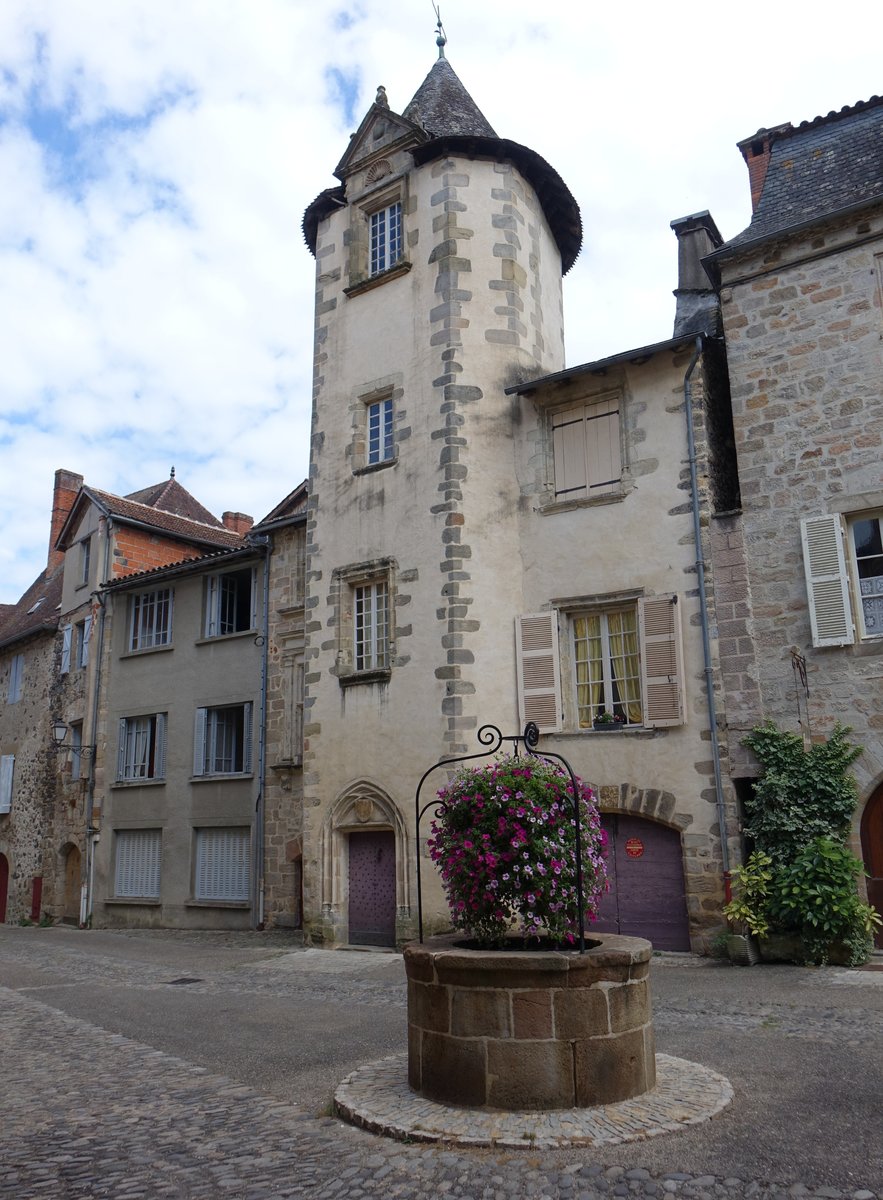
[[[787,229],[883,199],[883,97],[872,96],[771,136],[767,178],[751,224],[711,259]]]

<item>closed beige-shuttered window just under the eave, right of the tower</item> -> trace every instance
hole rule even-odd
[[[579,500],[619,491],[619,396],[559,408],[551,421],[555,499]]]

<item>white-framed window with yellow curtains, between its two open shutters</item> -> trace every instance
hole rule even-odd
[[[579,728],[601,713],[641,725],[641,649],[636,607],[599,610],[572,618],[573,673]]]

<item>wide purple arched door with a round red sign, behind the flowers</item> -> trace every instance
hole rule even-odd
[[[590,930],[645,937],[655,950],[689,950],[680,835],[643,817],[602,814],[601,824],[611,890]]]

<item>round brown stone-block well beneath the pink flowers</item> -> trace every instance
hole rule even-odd
[[[583,954],[477,950],[462,934],[404,948],[408,1082],[446,1104],[571,1109],[656,1081],[650,943],[594,935]]]

